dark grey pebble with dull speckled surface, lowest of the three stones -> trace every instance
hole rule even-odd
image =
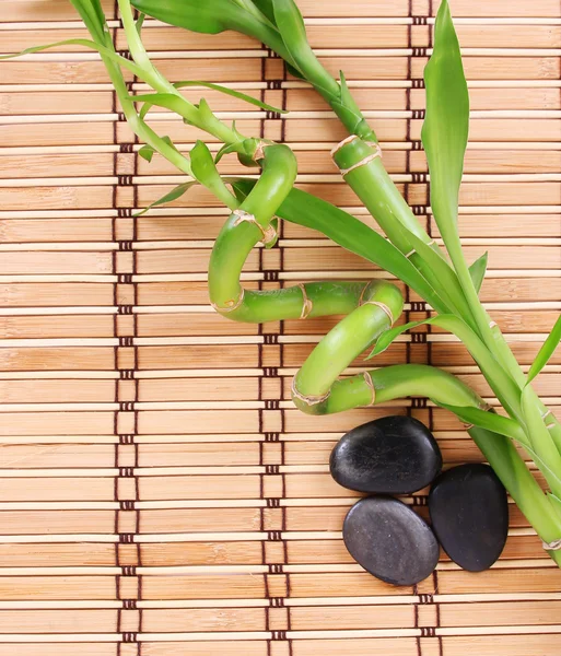
[[[389,496],[354,504],[344,519],[343,540],[360,565],[393,585],[414,585],[439,562],[439,543],[430,527]]]

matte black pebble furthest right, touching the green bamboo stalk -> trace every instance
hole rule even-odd
[[[509,504],[488,465],[461,465],[442,473],[429,494],[429,512],[444,551],[464,570],[481,572],[501,555]]]

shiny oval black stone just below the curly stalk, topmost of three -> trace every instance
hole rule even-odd
[[[432,433],[411,417],[384,417],[357,426],[331,452],[329,468],[343,488],[377,494],[410,494],[442,469]]]

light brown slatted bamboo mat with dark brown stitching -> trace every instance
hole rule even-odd
[[[0,4],[1,51],[83,35],[66,0]],[[419,141],[436,4],[301,0],[313,45],[344,69],[437,237]],[[104,5],[124,48],[114,1]],[[474,110],[461,234],[470,259],[489,250],[482,297],[528,365],[561,307],[561,5],[452,9]],[[289,142],[303,187],[371,222],[329,161],[340,127],[279,59],[231,34],[152,21],[144,34],[172,79],[230,82],[291,109],[281,118],[204,92],[244,132]],[[0,80],[0,656],[561,654],[561,573],[514,506],[504,555],[482,574],[443,557],[428,581],[393,588],[342,546],[353,494],[328,475],[338,437],[410,413],[447,465],[479,460],[452,415],[422,399],[299,413],[290,378],[334,321],[257,327],[210,311],[206,269],[225,212],[195,190],[131,216],[180,178],[138,157],[97,56],[4,61]],[[185,150],[196,138],[165,113],[154,126]],[[245,272],[262,289],[373,277],[384,273],[294,225]],[[406,307],[408,320],[425,316],[412,295]],[[490,397],[444,333],[402,337],[378,363],[406,361]],[[559,411],[561,353],[537,386]],[[422,515],[425,501],[406,499]]]

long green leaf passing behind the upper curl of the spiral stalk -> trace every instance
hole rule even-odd
[[[234,189],[243,197],[254,185],[255,180],[242,179],[234,185]],[[402,253],[343,210],[305,191],[292,189],[277,214],[291,223],[317,230],[347,250],[360,255],[402,280],[436,311],[444,309],[436,291]]]

